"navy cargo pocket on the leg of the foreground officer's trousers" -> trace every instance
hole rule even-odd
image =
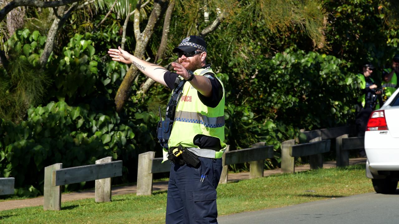
[[[217,218],[216,190],[194,191],[194,213],[196,222]]]

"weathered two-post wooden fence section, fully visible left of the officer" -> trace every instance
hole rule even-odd
[[[122,161],[105,157],[95,165],[62,169],[62,163],[44,168],[44,210],[61,210],[61,185],[95,182],[95,201],[111,201],[111,177],[122,176]]]

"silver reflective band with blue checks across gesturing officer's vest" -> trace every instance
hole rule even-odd
[[[203,124],[207,128],[220,128],[224,126],[224,116],[209,118],[196,112],[177,111],[175,121]]]

